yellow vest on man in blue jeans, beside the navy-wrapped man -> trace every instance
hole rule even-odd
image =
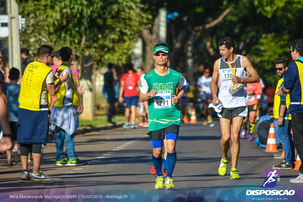
[[[71,72],[69,76],[72,77],[73,83],[76,86],[78,86],[77,80],[75,79],[75,76],[74,76],[74,74],[72,72],[72,69],[70,67],[68,67],[67,65],[62,64],[62,65],[60,65],[60,67],[58,67],[58,70],[62,70],[63,71],[66,68]],[[56,80],[55,83],[57,84],[58,81],[59,81],[59,79]],[[56,94],[56,98],[55,98],[53,106],[63,107],[64,106],[64,103],[63,103],[64,96],[65,96],[65,82],[62,83],[62,85],[61,85],[58,93]],[[74,106],[77,106],[77,107],[80,105],[80,94],[77,91],[75,91],[75,90],[72,91],[72,104]]]

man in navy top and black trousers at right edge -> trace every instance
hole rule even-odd
[[[299,167],[300,174],[292,183],[303,183],[303,39],[297,39],[290,45],[292,62],[284,76],[284,86],[279,87],[277,95],[289,92],[290,105],[288,107],[291,114],[291,129],[297,153],[301,159]]]

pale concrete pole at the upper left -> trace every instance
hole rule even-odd
[[[7,0],[7,13],[9,68],[15,67],[21,72],[19,8],[15,0]]]

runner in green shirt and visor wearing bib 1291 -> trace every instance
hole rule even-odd
[[[166,42],[155,45],[153,57],[156,67],[142,79],[140,101],[148,101],[148,135],[153,147],[152,161],[158,175],[155,189],[163,189],[163,185],[166,189],[175,189],[171,176],[177,159],[175,146],[181,123],[179,101],[183,96],[186,80],[181,73],[168,67],[170,54]],[[164,139],[167,147],[165,181],[162,174]]]

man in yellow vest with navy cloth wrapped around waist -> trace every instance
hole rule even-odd
[[[38,48],[37,61],[29,63],[24,71],[19,94],[19,117],[17,141],[20,144],[22,180],[50,180],[53,177],[40,171],[43,148],[48,134],[48,115],[51,95],[55,95],[69,74],[60,73],[54,83],[52,69],[48,67],[53,58],[53,48],[42,45]],[[28,154],[32,152],[33,172],[28,172]]]

